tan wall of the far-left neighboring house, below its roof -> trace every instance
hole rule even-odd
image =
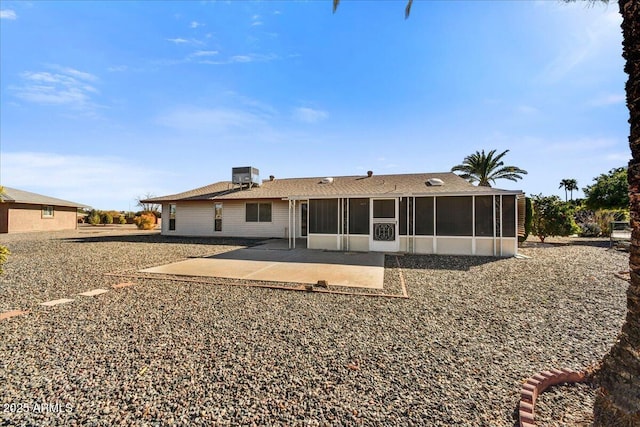
[[[78,227],[76,208],[54,206],[52,218],[42,217],[41,205],[7,203],[6,209],[9,233],[75,230]]]

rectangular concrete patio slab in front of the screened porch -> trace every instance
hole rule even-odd
[[[384,254],[309,249],[239,249],[140,270],[144,273],[220,277],[382,289]]]

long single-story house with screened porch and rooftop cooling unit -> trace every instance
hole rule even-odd
[[[144,202],[162,204],[164,235],[288,238],[290,247],[302,238],[310,249],[341,251],[517,253],[521,191],[474,186],[453,173],[260,183],[257,172],[234,168],[230,182]]]

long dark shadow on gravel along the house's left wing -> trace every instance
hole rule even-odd
[[[111,234],[103,236],[68,237],[61,239],[73,243],[168,243],[176,245],[215,245],[215,246],[254,246],[264,241],[264,239],[241,239],[241,238],[219,238],[219,237],[174,237],[163,236],[159,233],[153,234]]]

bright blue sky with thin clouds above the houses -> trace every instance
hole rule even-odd
[[[559,1],[0,3],[0,183],[98,209],[229,180],[442,172],[558,194],[629,160],[621,18]],[[574,196],[582,196],[579,191]]]

